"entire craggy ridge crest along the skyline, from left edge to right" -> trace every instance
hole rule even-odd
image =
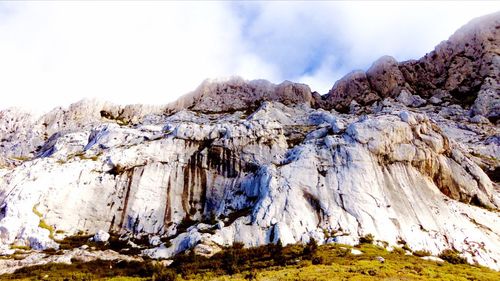
[[[500,14],[476,19],[419,60],[398,63],[390,56],[366,71],[353,71],[337,81],[324,96],[304,84],[239,77],[206,80],[195,91],[165,106],[117,106],[83,100],[68,109],[56,108],[41,117],[17,109],[0,112],[0,164],[34,157],[45,141],[60,131],[91,127],[103,120],[138,124],[143,118],[182,110],[230,113],[257,109],[264,101],[305,104],[339,112],[369,113],[371,106],[394,98],[411,107],[458,104],[470,117],[496,123],[500,114]],[[153,117],[156,116],[156,117]],[[7,156],[7,157],[5,157]]]

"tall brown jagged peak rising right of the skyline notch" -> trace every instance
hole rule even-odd
[[[500,116],[499,43],[497,12],[470,21],[419,60],[398,63],[383,56],[366,72],[347,74],[318,103],[347,112],[353,101],[369,105],[397,97],[404,90],[431,103],[446,96],[449,102],[470,108],[471,116],[483,115],[496,122]]]

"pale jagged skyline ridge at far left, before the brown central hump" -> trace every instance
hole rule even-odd
[[[89,129],[103,122],[137,124],[149,114],[163,112],[164,106],[124,106],[97,99],[83,99],[43,115],[19,108],[0,110],[0,166],[34,157],[51,136],[61,132]]]

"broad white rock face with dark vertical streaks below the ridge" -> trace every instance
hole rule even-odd
[[[1,170],[3,246],[57,247],[41,220],[96,241],[150,235],[143,253],[153,258],[234,242],[355,244],[371,233],[500,268],[498,214],[473,206],[498,209],[498,192],[425,114],[358,118],[279,103],[247,118],[180,111],[63,131],[42,151]]]

